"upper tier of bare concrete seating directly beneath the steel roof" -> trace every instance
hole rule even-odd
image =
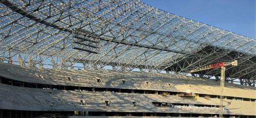
[[[39,77],[38,75],[42,76]],[[51,85],[142,89],[158,91],[186,92],[220,95],[220,82],[182,75],[161,73],[114,71],[114,70],[51,70],[22,67],[0,63],[0,76],[30,82]],[[68,80],[72,77],[72,81]],[[97,79],[101,79],[98,83]],[[125,84],[123,84],[125,80]],[[147,85],[146,82],[149,82]],[[225,83],[224,95],[244,98],[256,98],[255,87]]]

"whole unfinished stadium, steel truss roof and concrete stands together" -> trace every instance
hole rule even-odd
[[[1,0],[0,13],[0,117],[256,117],[253,38],[138,0]],[[219,68],[189,73],[235,60],[223,92]]]

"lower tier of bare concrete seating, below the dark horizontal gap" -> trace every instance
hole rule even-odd
[[[184,100],[175,95],[135,94],[135,93],[112,93],[112,92],[85,92],[52,90],[16,87],[0,84],[0,101],[2,108],[16,110],[50,110],[50,111],[115,111],[115,112],[179,112],[186,113],[218,113],[218,108],[195,108],[195,107],[155,107],[152,102],[188,103],[188,104],[211,104],[218,105],[218,99],[206,100],[198,98],[196,101]],[[81,104],[81,99],[87,105]],[[106,106],[105,100],[113,103]],[[137,101],[133,106],[132,101]],[[51,103],[54,104],[51,106]],[[225,113],[255,115],[255,102],[225,100],[229,110]],[[0,108],[1,108],[0,107]],[[203,109],[203,110],[202,110]]]

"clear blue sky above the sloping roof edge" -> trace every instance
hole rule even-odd
[[[256,39],[256,0],[142,0],[166,12]]]

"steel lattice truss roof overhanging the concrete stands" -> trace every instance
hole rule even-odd
[[[255,47],[255,39],[137,0],[1,0],[0,4],[0,56],[5,60],[21,53],[25,62],[36,64],[54,58],[59,66],[79,62],[174,73],[238,60],[237,67],[227,68],[228,78],[254,81]],[[198,74],[218,76],[220,71]]]

